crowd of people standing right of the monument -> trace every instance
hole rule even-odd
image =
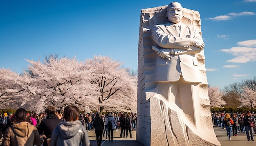
[[[253,134],[256,134],[256,114],[247,111],[246,113],[211,113],[213,126],[226,129],[227,138],[231,140],[231,133],[237,136],[239,133],[246,134],[247,141],[254,141]]]

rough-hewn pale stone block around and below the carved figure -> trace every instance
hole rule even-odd
[[[200,123],[195,126],[182,121],[182,115],[179,115],[179,111],[173,110],[175,107],[170,109],[161,95],[152,92],[157,87],[157,82],[153,82],[157,53],[151,49],[153,41],[150,36],[150,28],[156,24],[167,22],[166,7],[141,10],[136,139],[145,146],[220,146],[212,126],[203,51],[197,54],[202,77],[202,83],[199,84],[200,97],[197,99],[200,106],[196,109],[200,111],[200,115],[197,116],[201,121]],[[183,8],[182,23],[198,27],[201,30],[198,11]],[[171,120],[166,116],[166,110],[172,117]]]

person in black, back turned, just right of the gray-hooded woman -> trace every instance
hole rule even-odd
[[[97,140],[97,144],[98,146],[101,145],[101,141],[102,141],[102,132],[104,129],[104,122],[103,120],[99,117],[99,114],[96,114],[96,117],[92,123],[92,126],[95,129],[95,134],[96,134],[96,140]]]

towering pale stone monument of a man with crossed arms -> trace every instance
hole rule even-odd
[[[145,125],[142,121],[148,123],[144,117],[147,114],[141,114],[139,107],[139,102],[144,102],[141,94],[145,91],[146,100],[150,100],[149,145],[220,145],[211,122],[200,15],[185,11],[188,15],[185,21],[182,21],[184,8],[178,2],[172,2],[167,8],[141,12],[143,33],[140,34],[139,60],[143,59],[144,66],[141,67],[139,61],[138,83],[144,81],[145,84],[138,84],[137,129]],[[140,73],[141,70],[144,71]],[[137,140],[141,137],[137,132]]]

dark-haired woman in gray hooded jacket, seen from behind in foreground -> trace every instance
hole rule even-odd
[[[51,137],[51,146],[90,146],[88,133],[78,120],[79,109],[69,105],[64,109],[66,122],[58,124]]]

